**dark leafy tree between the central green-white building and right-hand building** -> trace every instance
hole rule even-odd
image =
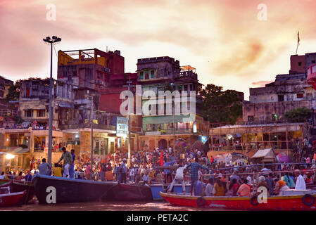
[[[242,103],[237,91],[223,91],[222,86],[208,84],[199,93],[203,98],[203,117],[209,122],[234,124],[242,117]]]

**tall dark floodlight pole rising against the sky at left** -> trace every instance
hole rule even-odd
[[[61,41],[60,37],[53,36],[51,37],[46,37],[46,39],[43,39],[43,41],[51,44],[51,78],[49,80],[49,156],[48,156],[48,162],[49,165],[51,165],[51,146],[52,146],[52,136],[53,136],[53,106],[52,106],[52,101],[53,101],[53,44]]]

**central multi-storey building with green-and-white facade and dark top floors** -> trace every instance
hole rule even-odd
[[[138,59],[137,72],[138,82],[141,84],[143,94],[142,105],[149,99],[144,96],[144,93],[153,91],[156,97],[150,99],[157,102],[156,105],[153,105],[153,107],[156,107],[156,112],[159,110],[158,91],[179,91],[181,96],[185,91],[188,96],[187,99],[189,99],[190,91],[196,93],[196,107],[187,111],[189,115],[184,115],[184,112],[173,115],[172,112],[167,110],[172,107],[172,103],[170,105],[166,102],[162,105],[164,108],[163,115],[158,113],[156,115],[144,115],[143,113],[143,135],[139,136],[141,148],[173,147],[173,142],[179,138],[192,144],[198,140],[198,136],[207,136],[206,123],[201,117],[201,108],[199,107],[201,98],[198,96],[198,89],[201,89],[202,84],[198,83],[195,68],[191,66],[180,67],[179,60],[164,56]],[[173,113],[175,112],[173,110]]]

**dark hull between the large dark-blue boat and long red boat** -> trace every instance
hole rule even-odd
[[[151,201],[151,188],[142,184],[117,184],[111,188],[102,200],[114,201]]]

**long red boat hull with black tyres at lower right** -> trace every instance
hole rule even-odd
[[[258,203],[257,196],[228,197],[210,196],[200,197],[179,195],[173,193],[159,193],[164,200],[172,205],[186,207],[209,207],[222,210],[316,210],[316,194],[272,196],[267,203]]]

